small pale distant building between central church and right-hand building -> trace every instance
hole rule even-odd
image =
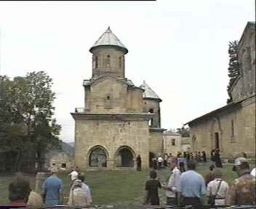
[[[191,149],[190,137],[182,137],[181,134],[171,130],[164,132],[164,153],[174,156],[178,152],[187,152]]]

